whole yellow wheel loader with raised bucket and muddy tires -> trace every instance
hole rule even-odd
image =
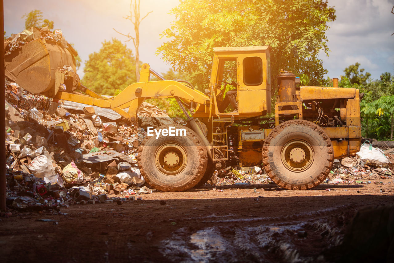
[[[71,47],[36,39],[5,56],[5,76],[32,93],[113,109],[131,123],[145,99],[175,98],[187,124],[157,127],[157,135],[139,146],[141,174],[160,191],[202,185],[216,169],[260,164],[280,187],[306,190],[329,175],[334,159],[360,149],[359,90],[339,88],[337,79],[334,87],[299,86],[299,78],[287,71],[275,73],[276,87],[268,46],[214,48],[204,93],[188,82],[165,80],[143,64],[140,81],[110,99],[64,70],[71,66],[75,72],[74,56]],[[150,81],[151,76],[159,80]],[[233,107],[226,110],[229,88]],[[171,129],[181,132],[169,136]]]

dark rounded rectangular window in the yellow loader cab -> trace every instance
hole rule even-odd
[[[263,83],[263,61],[260,57],[248,57],[243,60],[243,83],[258,86]]]

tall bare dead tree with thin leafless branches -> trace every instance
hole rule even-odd
[[[134,25],[134,32],[136,33],[136,36],[133,37],[132,35],[130,35],[130,33],[128,33],[127,35],[117,31],[115,28],[113,28],[113,30],[115,30],[116,32],[118,32],[121,35],[124,35],[126,37],[128,37],[128,40],[126,41],[133,41],[134,44],[134,48],[136,49],[136,76],[137,76],[137,81],[139,81],[139,24],[141,24],[141,21],[143,21],[143,19],[145,17],[147,17],[149,15],[149,13],[152,13],[152,11],[148,12],[143,18],[140,18],[140,13],[139,13],[139,1],[137,2],[137,0],[134,0],[134,5],[133,5],[133,0],[130,0],[130,15],[124,17],[127,20],[130,20],[132,22],[132,24]],[[134,19],[134,20],[133,20]]]

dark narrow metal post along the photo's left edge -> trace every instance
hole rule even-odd
[[[4,32],[4,5],[3,0],[0,0],[0,32]],[[0,72],[1,80],[0,86],[4,89],[4,45],[1,46],[1,61],[0,61]],[[4,90],[0,92],[0,101],[5,101]],[[0,106],[0,119],[6,119],[6,108]],[[6,122],[0,121],[0,138],[3,140],[3,149],[0,150],[0,210],[6,211]]]

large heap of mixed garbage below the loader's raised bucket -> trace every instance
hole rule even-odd
[[[7,85],[7,206],[43,210],[121,204],[151,194],[136,159],[145,129],[100,116],[93,107],[66,110],[62,103]],[[151,104],[144,103],[141,111],[145,118],[158,116],[153,118],[158,126],[171,121]]]

